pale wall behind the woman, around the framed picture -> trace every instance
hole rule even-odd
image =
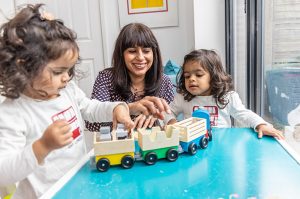
[[[105,66],[111,66],[111,56],[121,29],[117,0],[100,0]],[[161,48],[163,63],[172,59],[181,65],[183,56],[194,49],[193,1],[178,1],[179,26],[153,28]]]

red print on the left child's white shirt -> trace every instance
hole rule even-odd
[[[80,135],[79,122],[76,117],[75,111],[72,106],[67,108],[66,110],[59,112],[52,116],[52,121],[56,121],[59,119],[65,119],[71,125],[71,130],[73,132],[73,139],[77,138]]]

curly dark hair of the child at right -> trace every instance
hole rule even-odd
[[[198,62],[205,71],[209,72],[211,95],[215,98],[219,108],[225,108],[228,104],[226,95],[233,90],[233,83],[231,76],[225,72],[220,57],[213,50],[194,50],[184,56],[182,69],[177,75],[177,92],[183,94],[187,101],[191,101],[195,97],[187,91],[184,81],[184,66],[190,61]]]

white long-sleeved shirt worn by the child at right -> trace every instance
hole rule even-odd
[[[183,95],[176,93],[174,101],[171,102],[170,108],[172,114],[165,115],[165,124],[172,118],[176,118],[179,113],[183,113],[184,119],[192,117],[196,109],[206,109],[210,113],[210,122],[213,127],[231,127],[232,116],[241,122],[245,127],[256,128],[259,124],[267,124],[264,119],[243,105],[238,93],[232,91],[227,95],[229,103],[224,109],[220,109],[213,96],[196,96],[190,102],[184,100]]]

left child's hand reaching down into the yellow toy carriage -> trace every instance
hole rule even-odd
[[[113,110],[113,129],[117,128],[117,124],[125,125],[126,129],[134,128],[134,123],[129,115],[129,108],[125,103],[117,105]]]

